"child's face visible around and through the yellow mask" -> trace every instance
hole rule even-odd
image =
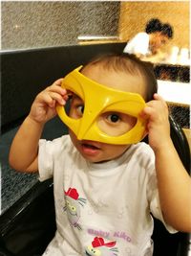
[[[89,79],[117,90],[139,93],[145,96],[145,84],[141,77],[127,75],[124,72],[107,71],[99,66],[85,67],[82,74]],[[83,115],[83,101],[73,97],[70,116],[78,119]],[[124,113],[108,112],[99,116],[97,124],[109,135],[117,136],[127,132],[136,125],[137,119]],[[126,151],[130,145],[112,145],[96,141],[78,140],[72,130],[70,136],[75,148],[91,162],[115,159]]]

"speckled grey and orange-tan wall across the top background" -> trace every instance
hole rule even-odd
[[[174,28],[165,50],[189,48],[189,1],[2,1],[1,48],[124,42],[143,31],[153,17]]]

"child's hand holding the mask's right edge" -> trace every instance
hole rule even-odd
[[[147,120],[149,145],[154,151],[163,150],[171,143],[170,125],[168,120],[168,106],[159,96],[154,95],[154,100],[147,103],[140,116]]]

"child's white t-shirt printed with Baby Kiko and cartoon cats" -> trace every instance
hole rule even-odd
[[[69,135],[40,140],[39,179],[52,176],[57,231],[43,255],[152,255],[150,212],[163,219],[147,144],[96,164],[76,151]]]

